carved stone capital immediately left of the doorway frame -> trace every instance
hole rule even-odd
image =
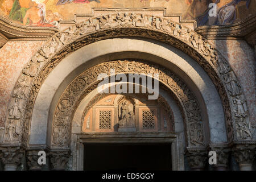
[[[49,158],[52,170],[65,171],[67,169],[68,160],[70,158],[70,151],[56,151],[50,152]]]

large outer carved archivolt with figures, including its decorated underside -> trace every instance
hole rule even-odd
[[[159,40],[181,49],[181,51],[195,59],[212,78],[220,94],[225,110],[229,140],[233,139],[233,131],[236,140],[251,139],[249,113],[245,111],[245,114],[238,114],[239,105],[237,103],[239,102],[233,101],[238,96],[239,100],[246,105],[245,97],[236,76],[229,67],[229,63],[220,52],[214,49],[201,35],[179,23],[152,15],[119,13],[89,18],[84,22],[76,23],[76,26],[70,27],[65,32],[57,32],[39,49],[26,67],[23,68],[22,75],[18,78],[14,88],[14,90],[17,90],[22,80],[27,78],[28,85],[24,89],[26,90],[26,97],[17,96],[16,92],[10,100],[8,109],[10,110],[13,107],[16,98],[18,103],[22,103],[20,105],[21,110],[18,111],[20,118],[15,125],[22,128],[23,137],[19,134],[10,140],[5,136],[4,142],[23,142],[27,145],[32,110],[40,86],[52,69],[65,56],[87,44],[123,36]],[[68,102],[68,100],[63,100],[62,102]],[[67,105],[69,104],[71,105],[72,103],[67,103]],[[60,109],[67,110],[68,108],[63,107]],[[5,126],[9,126],[10,122],[9,115],[7,115]],[[7,129],[5,128],[5,130]],[[61,130],[64,130],[64,128]],[[243,134],[240,134],[241,132]]]

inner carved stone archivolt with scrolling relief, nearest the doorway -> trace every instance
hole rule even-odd
[[[170,89],[179,100],[182,110],[184,111],[184,119],[187,128],[186,135],[188,136],[189,146],[204,146],[204,128],[201,116],[201,110],[196,97],[188,89],[180,78],[176,77],[168,69],[155,64],[148,64],[142,61],[109,61],[102,63],[86,70],[75,80],[71,82],[68,88],[61,95],[53,116],[52,129],[52,147],[68,147],[68,139],[71,131],[71,121],[73,114],[81,98],[91,92],[98,85],[97,77],[101,73],[106,73],[110,76],[110,69],[115,69],[115,73],[148,73],[159,74],[159,81]],[[81,81],[83,80],[83,81]],[[82,84],[77,86],[77,82]],[[160,97],[161,98],[161,97]],[[122,98],[121,98],[122,100]],[[129,98],[126,98],[128,101]],[[161,98],[159,101],[166,105],[166,101]],[[133,108],[134,101],[130,101]],[[170,107],[170,106],[169,106]],[[169,108],[170,109],[170,108]],[[88,110],[88,109],[86,109]],[[172,118],[172,117],[171,117]]]

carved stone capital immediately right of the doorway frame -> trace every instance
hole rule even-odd
[[[188,149],[185,154],[188,158],[188,164],[194,171],[202,171],[207,162],[207,152],[199,149]]]

